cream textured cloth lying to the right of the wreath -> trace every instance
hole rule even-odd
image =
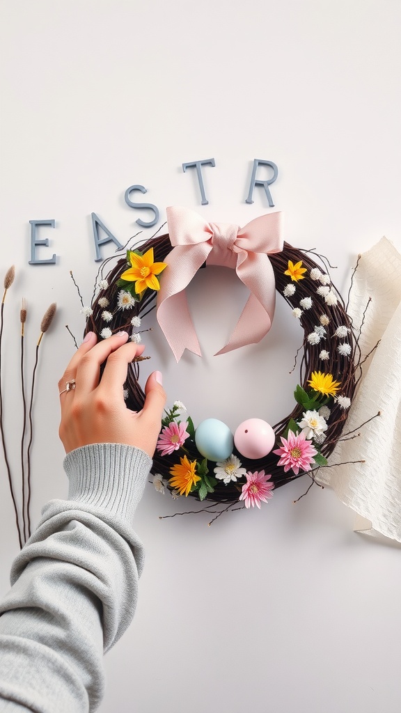
[[[342,434],[360,436],[340,440],[329,464],[365,463],[320,468],[316,481],[357,513],[356,531],[401,543],[401,255],[385,237],[360,256],[347,311],[357,334],[363,320],[361,361],[373,351]]]

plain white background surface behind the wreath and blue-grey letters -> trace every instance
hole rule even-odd
[[[279,168],[272,193],[286,239],[327,255],[340,288],[357,253],[383,234],[401,249],[401,6],[2,0],[0,11],[0,263],[2,275],[12,263],[17,270],[2,369],[16,481],[19,300],[29,302],[29,369],[41,317],[50,302],[59,306],[41,345],[34,404],[36,523],[47,499],[66,494],[56,381],[73,352],[64,325],[77,338],[83,329],[69,270],[87,302],[97,270],[92,211],[126,242],[144,216],[123,193],[142,183],[161,222],[176,204],[244,224],[268,210],[260,189],[245,204],[253,158],[264,158]],[[181,164],[211,156],[202,207]],[[54,218],[56,229],[44,229],[50,246],[38,255],[56,252],[57,265],[28,265],[29,220],[41,218]],[[169,400],[184,401],[196,421],[278,421],[296,381],[288,376],[300,343],[293,317],[279,302],[262,344],[213,359],[243,294],[232,276],[203,273],[191,304],[205,358],[187,355],[177,367],[153,332],[149,369],[163,371]],[[5,591],[18,543],[3,460],[0,468]],[[148,553],[141,597],[106,657],[102,713],[400,710],[400,551],[352,533],[352,513],[328,490],[313,488],[293,505],[307,486],[295,481],[262,511],[211,528],[203,514],[159,520],[188,503],[148,486],[136,520]]]

